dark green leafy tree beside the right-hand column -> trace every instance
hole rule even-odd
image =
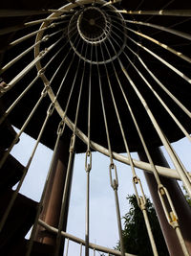
[[[129,212],[123,217],[124,229],[122,235],[125,251],[139,256],[153,255],[144,218],[138,207],[137,198],[133,195],[128,196],[127,199],[129,200],[131,207]],[[147,213],[159,255],[167,256],[169,255],[168,249],[160,230],[155,208],[149,198],[147,198]],[[116,248],[120,249],[119,243]]]

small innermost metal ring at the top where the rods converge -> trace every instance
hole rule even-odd
[[[81,37],[90,42],[101,42],[108,34],[107,17],[96,7],[88,7],[77,19],[77,29]]]

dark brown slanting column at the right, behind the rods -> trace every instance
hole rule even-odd
[[[169,167],[166,159],[164,158],[162,152],[159,149],[150,149],[151,157],[156,165]],[[140,160],[147,162],[147,157],[144,151],[138,151],[138,156]],[[182,249],[176,231],[168,224],[162,206],[159,200],[158,185],[155,180],[154,175],[144,173],[148,187],[153,198],[155,208],[159,217],[159,223],[161,226],[162,233],[164,235],[165,242],[167,244],[170,255],[181,256],[183,255]],[[179,184],[176,180],[172,178],[166,178],[160,176],[161,183],[167,188],[170,197],[175,206],[175,210],[179,217],[180,231],[182,233],[183,240],[186,244],[187,250],[191,255],[191,208],[183,196]]]

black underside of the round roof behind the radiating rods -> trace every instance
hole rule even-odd
[[[67,1],[44,1],[44,0],[30,0],[30,1],[4,1],[1,3],[1,9],[11,9],[11,10],[41,10],[41,9],[57,9],[63,6]],[[169,5],[167,4],[169,2]],[[119,4],[117,4],[119,5]],[[138,1],[138,0],[125,0],[122,1],[120,4],[124,9],[126,10],[191,10],[191,2],[190,1],[166,1],[166,0],[144,0],[144,1]],[[46,15],[36,16],[35,18],[44,17]],[[179,30],[184,33],[190,33],[191,28],[191,17],[178,17],[178,16],[151,16],[151,15],[124,15],[125,18],[129,18],[131,20],[138,20],[138,21],[147,21],[154,24],[159,24],[161,26],[165,27],[171,27],[176,30]],[[4,29],[6,27],[12,27],[15,25],[22,25],[23,22],[32,20],[34,17],[7,17],[7,18],[1,18],[0,26],[1,29]],[[31,40],[27,40],[25,43],[22,43],[19,45],[19,47],[14,48],[13,50],[9,50],[9,43],[14,39],[18,38],[19,36],[25,35],[26,33],[30,33],[32,30],[35,30],[38,27],[30,28],[21,30],[17,33],[10,33],[6,35],[0,35],[0,53],[1,53],[1,65],[3,66],[4,63],[8,61],[8,59],[12,58],[12,56],[16,56],[18,53],[22,52],[24,49],[27,49],[30,45],[33,43],[33,38]],[[146,35],[151,35],[155,39],[158,39],[160,42],[163,42],[177,51],[180,51],[184,55],[191,57],[191,51],[190,51],[190,41],[184,38],[181,38],[176,35],[169,35],[166,32],[157,31],[152,28],[144,27],[144,26],[135,26],[132,25],[130,28],[137,29],[139,32],[142,32]],[[155,53],[159,54],[161,58],[165,58],[167,61],[173,63],[181,72],[183,72],[185,75],[189,77],[190,74],[190,64],[180,58],[177,58],[173,56],[172,54],[169,54],[166,50],[159,48],[159,46],[151,43],[150,41],[146,39],[139,38],[137,35],[131,35],[133,38],[138,39],[139,42],[141,42],[143,45],[148,47],[149,49],[155,50]],[[171,71],[169,68],[167,68],[165,65],[161,64],[159,60],[156,60],[156,58],[153,58],[151,55],[143,51],[141,48],[138,49],[138,47],[133,46],[133,43],[131,41],[128,41],[127,44],[134,49],[134,51],[138,52],[138,55],[140,58],[144,59],[147,63],[147,66],[153,71],[156,77],[159,78],[159,80],[164,83],[167,88],[173,92],[173,94],[180,100],[180,102],[185,105],[189,110],[191,110],[191,104],[190,104],[190,96],[191,96],[191,86],[188,82],[183,81],[179,76],[175,75],[173,71]],[[60,45],[59,45],[60,47]],[[58,49],[58,48],[57,48]],[[56,52],[56,50],[54,53]],[[68,49],[69,50],[69,49]],[[66,52],[68,51],[66,49]],[[158,86],[158,84],[151,79],[151,77],[145,73],[142,66],[138,62],[138,59],[136,59],[131,53],[128,53],[128,56],[130,59],[133,59],[135,64],[137,64],[138,68],[141,70],[142,74],[145,74],[145,77],[148,81],[151,81],[153,87],[158,91],[160,97],[163,99],[165,103],[169,106],[170,109],[172,109],[173,113],[176,114],[176,116],[179,118],[180,123],[183,124],[184,128],[188,130],[188,132],[191,132],[191,122],[190,119],[185,115],[185,113],[169,98],[169,96],[166,95]],[[32,60],[33,54],[28,55],[26,58],[22,58],[22,61],[18,62],[18,66],[13,66],[11,69],[9,69],[8,72],[5,72],[2,75],[2,78],[4,81],[11,81],[11,79],[19,72],[20,68],[28,63],[29,59]],[[56,61],[61,61],[63,57],[60,55]],[[69,58],[72,58],[69,57]],[[46,62],[45,60],[43,60]],[[127,88],[127,98],[132,105],[134,113],[138,120],[138,125],[141,127],[142,134],[147,142],[148,145],[152,147],[157,147],[161,145],[161,142],[159,140],[159,136],[155,129],[153,128],[149,117],[145,111],[145,109],[142,107],[138,100],[138,96],[134,92],[131,86],[129,86],[124,74],[121,72],[121,69],[117,63],[117,60],[115,65],[117,67],[117,74],[120,78],[121,83],[126,86]],[[131,78],[133,81],[135,81],[138,90],[141,92],[145,100],[147,101],[147,104],[152,109],[152,112],[154,113],[154,116],[156,117],[160,128],[165,133],[166,137],[169,139],[169,141],[173,142],[176,140],[179,140],[181,137],[183,137],[182,132],[180,131],[180,128],[178,128],[174,121],[169,117],[167,112],[164,110],[164,108],[159,104],[159,102],[156,100],[155,97],[153,97],[153,93],[146,88],[144,85],[144,82],[141,81],[140,78],[138,78],[138,73],[135,71],[135,69],[128,63],[125,62],[126,60],[121,57],[121,61],[123,63],[126,63],[126,68],[128,70],[128,73],[131,75]],[[74,78],[74,70],[76,69],[76,63],[77,58],[74,64],[73,69],[70,71],[70,78],[67,80],[67,84],[72,84],[72,81]],[[100,103],[100,96],[99,96],[99,89],[97,86],[98,79],[97,76],[94,76],[96,72],[96,67],[93,67],[93,81],[92,81],[92,109],[91,109],[91,139],[95,142],[99,143],[102,146],[105,146],[107,148],[107,140],[105,135],[105,128],[104,128],[104,122],[103,122],[103,116],[102,109],[101,109],[101,103]],[[108,70],[111,70],[110,73],[110,79],[112,81],[112,84],[114,85],[114,91],[115,95],[117,96],[117,107],[118,111],[120,113],[120,117],[122,120],[123,128],[125,130],[125,135],[128,138],[128,143],[130,146],[131,151],[138,151],[141,149],[141,145],[138,139],[138,133],[135,128],[135,125],[133,124],[132,118],[128,112],[127,106],[125,105],[124,100],[122,100],[122,95],[117,86],[115,84],[117,83],[116,77],[114,75],[114,72],[112,72],[112,64],[108,65]],[[82,67],[81,67],[82,72]],[[48,70],[48,77],[53,73],[52,68]],[[81,73],[80,73],[81,74]],[[32,81],[32,78],[36,75],[36,69],[32,69],[32,71],[25,76],[25,79],[21,80],[16,84],[16,86],[8,93],[5,94],[5,96],[2,98],[5,107],[8,107],[11,105],[11,102],[18,96],[22,90],[26,87],[26,84],[29,84],[30,81]],[[101,67],[101,76],[102,80],[104,81],[103,86],[103,94],[105,95],[105,108],[107,113],[107,120],[109,125],[109,132],[112,142],[112,149],[114,151],[124,151],[124,146],[121,138],[121,134],[118,129],[117,124],[117,117],[115,113],[115,108],[112,103],[112,98],[109,92],[108,88],[108,81],[107,77],[104,74],[104,68]],[[80,83],[80,76],[77,77],[78,84]],[[54,86],[56,87],[57,84],[60,82],[61,77],[58,77],[56,81],[54,81]],[[82,131],[84,131],[85,134],[87,134],[87,109],[88,109],[88,75],[84,82],[84,93],[82,95],[82,105],[80,106],[80,114],[79,114],[79,122],[77,124],[78,128],[80,128]],[[10,115],[11,124],[17,128],[20,128],[24,121],[26,120],[27,116],[32,110],[32,106],[35,104],[37,99],[39,98],[40,92],[43,89],[43,83],[42,81],[38,81],[34,84],[30,92],[26,95],[26,97],[22,100],[22,102],[15,107],[15,109],[12,111]],[[61,102],[61,105],[65,107],[69,93],[70,93],[70,86],[66,87],[66,90],[64,94],[62,94],[59,97],[59,101]],[[76,109],[76,102],[77,102],[77,95],[79,91],[79,86],[75,86],[74,89],[74,98],[73,102],[69,107],[68,116],[74,121],[74,114]],[[47,97],[47,99],[43,100],[43,103],[39,106],[38,112],[34,117],[32,118],[32,121],[28,128],[26,129],[26,132],[30,134],[32,137],[36,138],[38,135],[38,132],[40,130],[40,127],[42,126],[43,120],[46,116],[46,109],[50,105],[50,100]],[[42,136],[42,143],[46,146],[53,149],[53,144],[55,141],[56,136],[56,128],[60,121],[60,117],[54,111],[53,116],[51,117],[49,124]],[[71,132],[68,131],[65,133],[65,139],[68,140],[70,137]],[[86,151],[86,146],[81,143],[79,140],[77,141],[76,145],[76,151],[82,152]]]

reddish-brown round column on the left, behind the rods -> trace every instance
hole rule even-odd
[[[43,203],[42,213],[40,215],[40,220],[45,221],[47,224],[56,227],[59,222],[59,213],[62,202],[67,166],[69,160],[69,143],[64,143],[63,140],[59,140],[57,151],[53,159],[53,169],[50,175],[47,190],[45,192],[45,198]],[[73,173],[73,172],[72,172]],[[72,184],[72,175],[70,176],[70,188],[67,198],[66,212],[64,215],[63,231],[66,231],[69,200],[70,200],[70,190]],[[56,244],[56,236],[47,232],[44,228],[39,228],[35,234],[35,241],[42,244]],[[60,255],[64,246],[64,240],[60,249]]]

